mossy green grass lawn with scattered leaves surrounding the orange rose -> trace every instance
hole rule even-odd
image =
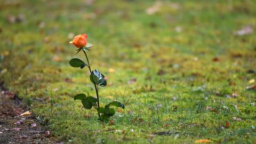
[[[1,81],[59,141],[256,143],[256,93],[245,89],[256,78],[256,33],[234,34],[256,26],[255,1],[0,3]],[[101,104],[126,106],[114,125],[73,99],[94,94],[89,71],[68,64],[84,59],[68,44],[81,33],[94,45],[92,68],[107,76]]]

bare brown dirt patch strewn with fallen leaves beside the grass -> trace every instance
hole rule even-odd
[[[57,143],[17,95],[2,84],[0,92],[0,143]]]

